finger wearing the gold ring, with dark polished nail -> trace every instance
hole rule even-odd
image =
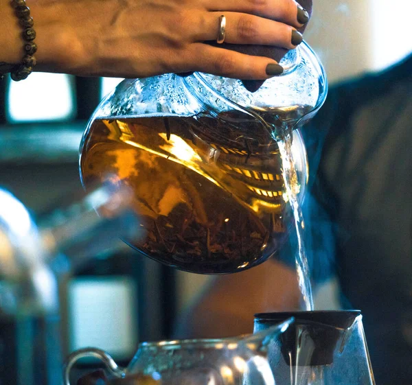
[[[197,41],[216,40],[219,30],[219,17],[222,12],[209,12],[203,23],[203,30],[196,34]],[[251,14],[225,12],[225,43],[275,45],[293,49],[303,40],[294,27]]]

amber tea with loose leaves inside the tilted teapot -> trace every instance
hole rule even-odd
[[[250,268],[279,249],[293,215],[277,143],[239,139],[242,125],[253,128],[227,117],[95,119],[82,181],[133,191],[140,229],[126,241],[141,253],[205,274]]]

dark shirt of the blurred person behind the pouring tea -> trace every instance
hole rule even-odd
[[[330,219],[312,234],[330,246],[314,279],[334,266],[344,306],[362,310],[377,384],[412,384],[412,56],[332,87],[303,133],[317,202],[306,211]]]

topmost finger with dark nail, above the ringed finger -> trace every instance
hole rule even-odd
[[[308,12],[295,0],[205,0],[209,11],[242,12],[301,27],[309,20]]]

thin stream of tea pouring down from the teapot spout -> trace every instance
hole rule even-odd
[[[286,193],[288,194],[288,201],[293,210],[293,217],[295,218],[295,228],[297,236],[297,250],[295,255],[295,264],[297,270],[297,279],[299,289],[301,291],[302,299],[306,311],[314,310],[312,298],[312,285],[310,283],[310,270],[308,265],[308,257],[304,244],[304,215],[302,213],[301,205],[299,204],[299,183],[297,179],[297,172],[295,169],[295,162],[292,152],[292,132],[285,130],[284,135],[277,140],[279,151],[282,157],[282,173],[284,178],[284,185]]]

